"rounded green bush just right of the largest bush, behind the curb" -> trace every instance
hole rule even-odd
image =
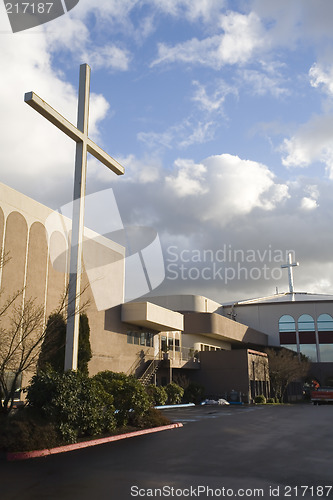
[[[93,380],[112,395],[118,427],[136,425],[136,420],[151,406],[144,386],[133,376],[104,371],[97,373]]]

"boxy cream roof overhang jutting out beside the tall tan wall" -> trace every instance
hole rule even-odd
[[[159,332],[183,331],[184,316],[151,302],[128,302],[121,306],[124,323],[143,326]]]

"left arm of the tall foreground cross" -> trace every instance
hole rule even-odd
[[[49,104],[47,104],[47,102],[43,101],[43,99],[41,99],[37,94],[34,92],[27,92],[24,96],[24,101],[75,142],[84,141],[83,133]]]

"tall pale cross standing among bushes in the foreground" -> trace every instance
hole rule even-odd
[[[77,127],[33,92],[28,92],[24,96],[24,100],[29,106],[76,142],[65,370],[77,369],[87,153],[92,154],[117,175],[122,175],[125,172],[124,168],[116,160],[111,158],[88,137],[89,94],[90,67],[87,64],[82,64],[80,66]]]

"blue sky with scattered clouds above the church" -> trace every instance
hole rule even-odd
[[[331,0],[80,0],[17,34],[0,5],[0,31],[1,182],[52,208],[71,199],[74,145],[23,95],[75,123],[86,62],[91,136],[126,168],[90,159],[87,192],[112,187],[125,224],[158,232],[155,293],[287,291],[287,250],[297,291],[333,293]],[[225,248],[243,257],[207,262]]]

